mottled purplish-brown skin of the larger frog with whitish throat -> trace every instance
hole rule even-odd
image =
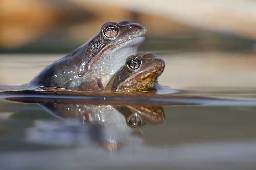
[[[104,30],[118,29],[108,38]],[[103,90],[126,58],[137,52],[145,39],[146,29],[134,23],[106,23],[100,32],[74,52],[47,66],[30,85],[59,87],[81,91]]]

